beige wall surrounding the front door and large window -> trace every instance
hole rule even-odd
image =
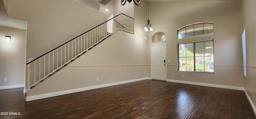
[[[154,31],[148,31],[148,59],[151,37],[162,31],[166,33],[167,60],[171,61],[167,79],[243,87],[241,14],[240,0],[152,2],[149,19]],[[214,22],[214,35],[176,40],[177,29],[202,21]],[[177,71],[177,43],[212,38],[214,74]]]

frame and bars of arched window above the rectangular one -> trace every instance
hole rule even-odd
[[[204,34],[204,23],[211,23],[212,24],[212,29],[213,29],[213,32],[212,33],[206,33],[206,34]],[[187,27],[190,27],[190,26],[194,26],[194,25],[197,25],[197,24],[202,24],[202,30],[203,30],[203,34],[201,34],[201,35],[193,35],[193,36],[188,36],[187,37],[187,35],[186,35],[186,33],[187,33],[187,31],[186,31],[186,28]],[[183,38],[179,38],[179,31],[181,30],[181,29],[183,29],[183,28],[185,28],[185,37],[183,37]],[[195,27],[194,27],[194,30],[193,31],[195,31]],[[207,35],[213,35],[214,34],[214,24],[213,24],[213,22],[198,22],[198,23],[192,23],[192,24],[189,24],[189,25],[185,25],[185,26],[183,26],[183,27],[181,27],[180,29],[178,29],[177,30],[177,40],[180,40],[180,39],[187,39],[187,38],[191,38],[191,37],[202,37],[202,36],[207,36]]]

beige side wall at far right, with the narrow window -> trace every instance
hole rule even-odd
[[[256,106],[256,40],[254,36],[256,31],[255,4],[255,0],[242,0],[242,30],[240,31],[242,33],[245,27],[247,77],[244,77],[244,88],[254,103],[254,107]]]

